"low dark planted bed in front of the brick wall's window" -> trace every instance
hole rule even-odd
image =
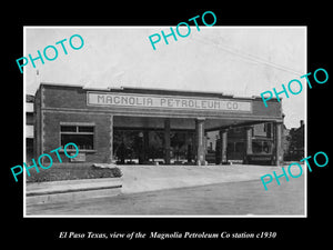
[[[27,173],[27,182],[79,180],[94,178],[118,178],[122,176],[119,168],[95,168],[92,163],[58,163],[50,169],[30,169],[30,177]]]

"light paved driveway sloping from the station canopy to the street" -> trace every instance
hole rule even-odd
[[[119,167],[123,173],[123,193],[260,180],[264,174],[273,174],[273,171],[282,173],[281,167],[253,164]]]

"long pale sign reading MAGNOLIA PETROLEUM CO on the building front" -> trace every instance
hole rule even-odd
[[[252,112],[251,101],[219,98],[87,92],[88,106]]]

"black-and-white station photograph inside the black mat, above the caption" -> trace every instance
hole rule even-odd
[[[306,217],[306,27],[195,20],[24,27],[24,217]]]

